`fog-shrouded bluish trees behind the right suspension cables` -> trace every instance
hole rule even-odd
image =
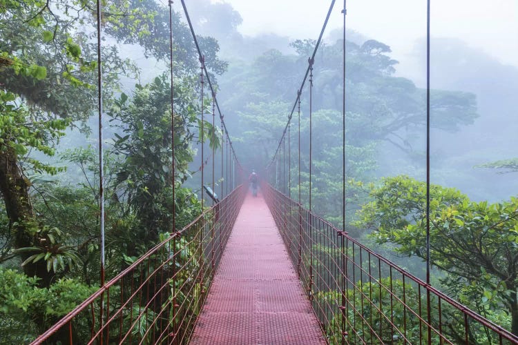
[[[343,193],[343,80],[342,43],[324,44],[316,54],[312,98],[312,206],[318,215],[341,226]],[[238,154],[248,168],[260,168],[271,161],[282,130],[288,120],[307,57],[315,41],[291,43],[296,54],[269,50],[249,66],[231,66],[229,79],[222,88],[231,90],[226,106],[239,115],[238,126],[230,124],[236,135]],[[355,210],[367,199],[363,184],[382,175],[377,161],[384,141],[396,146],[407,161],[422,152],[416,135],[425,125],[421,116],[425,91],[409,79],[394,77],[398,63],[390,57],[390,47],[375,40],[358,45],[347,41],[347,99],[345,113],[345,218],[349,233],[362,233],[350,222]],[[236,87],[237,86],[237,87]],[[291,196],[298,195],[298,147],[303,204],[309,194],[309,83],[301,90],[300,143],[298,112],[291,119]],[[463,92],[432,90],[432,126],[441,130],[459,130],[476,119],[474,95]],[[287,135],[285,135],[287,139]],[[269,181],[288,194],[288,144],[281,144],[279,155],[270,166]],[[285,166],[283,163],[286,162]],[[276,171],[277,169],[277,171]],[[283,184],[284,185],[283,185]]]

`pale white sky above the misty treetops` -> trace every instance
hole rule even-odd
[[[329,0],[211,0],[240,12],[242,34],[274,32],[292,38],[318,37]],[[336,1],[328,30],[341,28],[343,1]],[[425,0],[349,0],[347,26],[388,44],[395,59],[412,52],[426,33]],[[329,32],[329,31],[328,31]],[[455,37],[518,66],[518,0],[432,0],[432,36]],[[432,47],[433,49],[433,47]]]

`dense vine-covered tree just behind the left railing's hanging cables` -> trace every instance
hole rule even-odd
[[[156,77],[146,86],[137,85],[131,101],[124,94],[115,101],[108,115],[118,124],[115,134],[113,155],[122,157],[112,173],[113,193],[119,203],[126,206],[126,213],[133,213],[138,225],[133,234],[140,239],[145,250],[157,242],[160,233],[171,231],[173,212],[181,215],[189,212],[189,201],[173,203],[171,181],[171,86],[167,76]],[[195,99],[194,81],[185,80],[175,88],[175,177],[180,188],[189,176],[188,164],[193,161],[195,151],[191,147],[193,138],[200,138],[198,122],[199,107],[191,102]],[[219,146],[212,125],[204,121],[204,138],[211,146]],[[181,195],[182,193],[180,193]],[[173,210],[173,205],[178,210]],[[198,205],[198,200],[193,204]],[[184,208],[184,209],[182,209]],[[200,208],[198,208],[198,212]],[[198,215],[191,214],[188,221]],[[179,223],[180,228],[186,223]],[[128,255],[135,255],[130,250]]]

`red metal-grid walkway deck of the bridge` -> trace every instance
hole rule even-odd
[[[274,218],[247,195],[190,344],[325,344]]]

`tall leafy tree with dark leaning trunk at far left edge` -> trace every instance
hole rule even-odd
[[[96,48],[88,34],[78,30],[92,21],[89,10],[94,7],[79,0],[7,1],[2,5],[0,192],[8,229],[15,233],[11,244],[25,261],[25,272],[39,277],[41,286],[49,286],[56,270],[50,270],[39,256],[30,262],[27,259],[39,250],[53,253],[49,248],[59,248],[61,239],[59,232],[52,235],[44,230],[36,217],[28,174],[55,174],[59,169],[42,164],[29,153],[37,150],[54,155],[55,143],[65,128],[75,120],[86,120],[95,109]],[[113,6],[110,3],[108,7]],[[105,50],[103,55],[108,96],[117,84],[117,75],[131,65],[122,61],[116,50]],[[50,259],[57,259],[54,254]]]

